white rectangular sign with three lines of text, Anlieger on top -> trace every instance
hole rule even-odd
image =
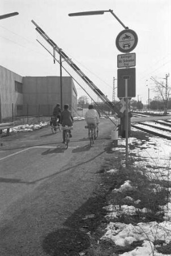
[[[135,53],[118,55],[118,68],[124,67],[135,67]]]

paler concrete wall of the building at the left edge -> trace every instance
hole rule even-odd
[[[23,77],[0,66],[0,120],[12,116],[12,105],[15,114],[16,106],[23,104],[23,93],[15,90],[15,81],[22,88]]]

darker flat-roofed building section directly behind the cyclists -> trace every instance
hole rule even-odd
[[[56,104],[61,105],[60,77],[23,77],[23,102],[28,114],[51,115]],[[77,109],[77,92],[71,77],[62,77],[62,105]]]

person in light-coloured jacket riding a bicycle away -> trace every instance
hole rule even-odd
[[[94,139],[96,139],[95,132],[96,129],[98,129],[98,124],[100,122],[99,114],[97,110],[94,109],[93,104],[90,104],[88,108],[89,110],[85,113],[85,120],[87,125],[94,125]],[[90,135],[90,130],[88,135]]]

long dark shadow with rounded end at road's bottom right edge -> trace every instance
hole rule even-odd
[[[106,210],[106,196],[109,192],[90,197],[65,222],[44,238],[42,247],[50,256],[77,256],[90,246],[90,233],[95,232],[103,221]],[[89,233],[90,232],[90,233]]]

